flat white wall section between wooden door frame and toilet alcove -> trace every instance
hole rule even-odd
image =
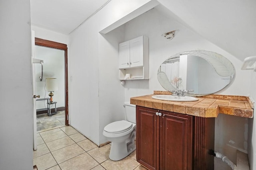
[[[97,27],[98,22],[88,20],[70,35],[69,106],[70,125],[99,145]]]

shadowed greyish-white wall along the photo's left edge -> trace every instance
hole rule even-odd
[[[32,170],[30,0],[0,0],[0,169]]]

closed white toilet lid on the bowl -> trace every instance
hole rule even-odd
[[[121,121],[115,121],[113,123],[110,123],[104,127],[104,131],[108,133],[118,133],[122,131],[128,131],[132,128],[132,123],[121,120]]]

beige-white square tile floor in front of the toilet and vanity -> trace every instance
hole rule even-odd
[[[110,144],[99,148],[71,126],[39,132],[37,139],[33,164],[38,170],[146,170],[136,161],[136,151],[112,161]]]

